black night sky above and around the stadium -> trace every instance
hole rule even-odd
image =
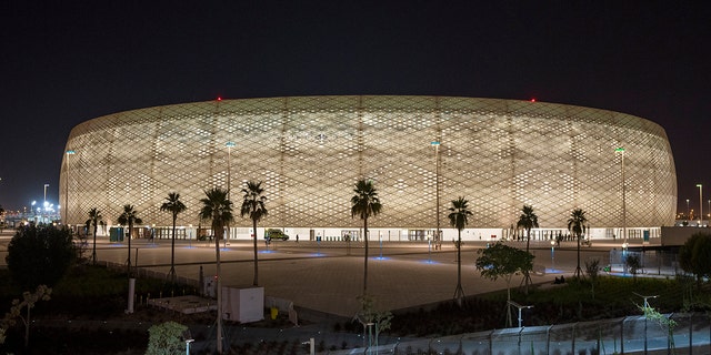
[[[0,204],[58,199],[92,118],[170,103],[423,94],[661,124],[680,207],[711,199],[710,1],[2,1]],[[707,204],[704,203],[704,210]]]

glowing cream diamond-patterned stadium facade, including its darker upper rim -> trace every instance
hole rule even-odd
[[[462,233],[469,240],[517,233],[511,226],[523,204],[539,216],[538,239],[565,233],[578,207],[591,237],[620,237],[623,226],[629,237],[644,231],[654,236],[673,225],[677,205],[674,161],[660,125],[542,102],[217,100],[89,120],[71,131],[66,148],[60,202],[69,224],[83,224],[96,207],[116,225],[122,206],[132,204],[147,226],[160,230],[172,221],[159,207],[178,192],[188,206],[178,224],[188,237],[200,225],[203,191],[229,183],[237,206],[230,235],[249,239],[251,221],[239,217],[248,180],[262,181],[268,197],[258,235],[280,227],[302,239],[360,235],[362,221],[351,217],[350,199],[363,178],[374,182],[383,204],[369,220],[371,240],[429,239],[438,220],[443,239],[453,239],[447,214],[459,196],[473,213]],[[619,148],[624,152],[615,153]]]

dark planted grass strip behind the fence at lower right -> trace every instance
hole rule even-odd
[[[512,282],[512,284],[517,284]],[[532,305],[527,310],[527,325],[575,323],[629,315],[641,315],[642,296],[653,296],[649,304],[661,313],[680,312],[690,301],[695,310],[708,310],[711,287],[697,288],[693,282],[675,278],[601,276],[594,286],[588,280],[570,278],[564,284],[540,284],[525,295],[511,290],[512,301]],[[639,295],[637,295],[637,294]],[[460,308],[444,302],[432,308],[409,310],[395,314],[392,334],[400,336],[444,336],[480,332],[505,326],[507,291],[468,297]]]

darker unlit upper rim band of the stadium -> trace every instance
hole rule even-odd
[[[216,105],[218,108],[216,108]],[[250,108],[251,106],[251,108]],[[80,131],[93,126],[97,123],[110,122],[147,122],[166,119],[162,114],[152,114],[153,111],[170,109],[173,113],[181,108],[186,112],[202,114],[227,114],[252,111],[283,112],[284,110],[354,110],[354,109],[381,109],[381,110],[449,110],[449,111],[490,111],[497,113],[520,114],[522,116],[540,116],[541,112],[558,113],[573,121],[605,123],[612,125],[634,128],[643,130],[669,140],[664,129],[648,119],[637,115],[589,106],[580,106],[564,103],[551,103],[542,101],[469,98],[469,97],[440,97],[440,95],[297,95],[297,97],[267,97],[246,99],[214,99],[186,103],[172,103],[157,106],[147,106],[119,111],[107,115],[87,120],[76,125],[70,136],[80,134]],[[218,109],[218,110],[216,110]]]

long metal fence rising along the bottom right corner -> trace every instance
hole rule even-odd
[[[710,354],[711,324],[705,314],[665,315],[665,325],[644,316],[551,326],[517,327],[323,354],[458,354],[458,355],[604,355]]]

